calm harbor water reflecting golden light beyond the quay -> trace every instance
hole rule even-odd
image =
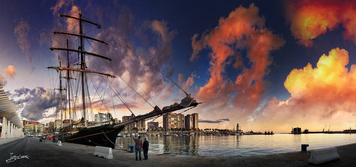
[[[251,156],[301,151],[356,143],[356,134],[275,134],[237,136],[142,136],[149,153],[184,156]],[[137,138],[137,137],[136,137]],[[118,149],[135,144],[132,137],[117,137]]]

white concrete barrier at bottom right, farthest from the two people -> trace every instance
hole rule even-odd
[[[339,159],[340,155],[335,147],[316,149],[311,152],[310,163],[320,164],[334,159]]]

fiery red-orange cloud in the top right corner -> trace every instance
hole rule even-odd
[[[334,31],[339,25],[345,29],[343,38],[356,45],[356,3],[354,1],[289,1],[287,20],[290,31],[299,45],[313,46],[313,40],[328,29]]]

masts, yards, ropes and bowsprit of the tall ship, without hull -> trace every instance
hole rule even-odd
[[[67,97],[67,94],[68,94],[68,100],[67,98],[65,98],[65,104],[67,104],[67,101],[68,101],[68,110],[69,110],[69,124],[72,124],[72,118],[76,119],[76,112],[77,110],[79,109],[82,109],[82,120],[81,122],[84,123],[84,127],[86,128],[87,127],[87,113],[88,113],[88,107],[90,108],[90,111],[91,111],[91,116],[93,116],[93,108],[96,107],[96,105],[98,105],[98,103],[95,104],[95,106],[93,107],[92,106],[92,99],[91,99],[91,96],[89,95],[89,90],[88,90],[88,85],[87,85],[87,79],[91,79],[92,82],[94,82],[95,79],[93,79],[93,77],[91,75],[88,75],[88,73],[93,73],[93,74],[99,74],[99,75],[105,75],[105,76],[108,76],[108,77],[111,77],[111,80],[109,80],[109,78],[106,79],[106,85],[105,85],[105,88],[104,88],[104,91],[103,91],[103,94],[100,93],[99,91],[99,87],[96,87],[95,84],[94,84],[94,88],[96,90],[95,94],[94,94],[94,97],[98,94],[99,96],[99,99],[102,101],[101,103],[101,106],[100,106],[100,110],[102,109],[103,105],[104,105],[104,108],[109,111],[109,107],[107,107],[106,105],[106,102],[105,102],[105,99],[104,99],[104,96],[105,96],[105,91],[107,89],[110,89],[114,95],[120,99],[120,101],[124,104],[124,106],[132,113],[133,117],[132,119],[130,119],[129,121],[125,121],[125,122],[122,122],[120,124],[117,124],[114,126],[114,128],[118,128],[120,126],[125,126],[126,124],[129,124],[129,123],[132,123],[132,122],[137,122],[138,120],[140,119],[149,119],[149,118],[152,118],[153,116],[161,116],[162,114],[164,113],[167,113],[167,112],[172,112],[172,111],[175,111],[175,110],[180,110],[180,109],[183,109],[183,108],[188,108],[186,109],[185,111],[191,109],[191,108],[194,108],[196,107],[199,103],[197,103],[193,98],[190,97],[190,95],[182,88],[179,86],[179,84],[177,82],[175,82],[171,77],[169,77],[167,74],[165,74],[158,66],[156,66],[153,62],[149,61],[147,58],[145,58],[141,53],[135,51],[132,47],[130,47],[129,45],[127,45],[123,40],[117,38],[116,36],[114,36],[113,34],[109,33],[108,31],[106,30],[102,30],[103,32],[106,32],[107,34],[109,34],[110,36],[112,36],[113,39],[117,40],[118,42],[120,42],[123,46],[127,47],[129,50],[132,51],[132,53],[134,53],[134,55],[138,56],[139,58],[141,58],[142,60],[144,60],[147,64],[151,65],[152,67],[154,67],[157,71],[159,71],[164,77],[166,77],[168,80],[170,80],[172,82],[172,84],[174,84],[177,88],[181,89],[185,94],[186,94],[186,98],[182,100],[182,103],[181,104],[177,104],[175,103],[174,105],[171,105],[171,106],[166,106],[163,108],[163,110],[161,110],[157,104],[153,101],[153,99],[151,98],[151,96],[149,94],[147,94],[140,86],[139,84],[135,81],[135,79],[133,79],[133,81],[135,82],[135,84],[142,90],[142,92],[148,97],[148,99],[150,99],[150,101],[152,101],[154,105],[152,105],[148,99],[145,99],[142,95],[140,95],[127,81],[124,80],[124,78],[118,76],[118,78],[122,79],[135,93],[137,93],[147,104],[151,105],[154,110],[151,111],[150,113],[148,114],[144,114],[144,115],[139,115],[139,116],[135,116],[134,112],[132,111],[132,109],[130,108],[130,105],[125,101],[125,99],[123,98],[123,96],[120,94],[119,91],[117,91],[117,89],[115,88],[115,86],[112,85],[112,81],[113,79],[115,78],[114,75],[112,74],[109,74],[109,73],[105,73],[105,72],[100,72],[102,71],[100,66],[96,64],[95,61],[94,62],[94,65],[97,69],[99,69],[98,71],[94,71],[94,70],[88,70],[86,69],[87,66],[85,64],[85,59],[86,58],[91,58],[91,56],[94,56],[94,57],[97,57],[97,58],[101,58],[101,59],[105,59],[105,60],[109,60],[109,61],[112,61],[112,59],[110,57],[106,57],[106,56],[103,56],[103,55],[100,55],[100,54],[96,54],[96,53],[92,53],[92,52],[86,52],[84,50],[84,44],[83,44],[83,39],[90,39],[90,40],[93,40],[93,41],[96,41],[98,43],[102,43],[102,44],[105,44],[105,45],[108,45],[108,43],[106,43],[105,41],[101,40],[101,39],[96,39],[96,38],[93,38],[93,37],[90,37],[90,36],[87,36],[83,33],[83,22],[86,22],[86,23],[89,23],[89,24],[93,24],[95,26],[97,26],[97,28],[101,28],[101,26],[95,22],[92,22],[90,20],[87,20],[85,19],[84,17],[82,17],[81,15],[81,10],[79,9],[79,17],[75,17],[75,16],[69,16],[69,15],[60,15],[61,17],[66,17],[66,18],[71,18],[71,19],[75,19],[79,22],[79,33],[76,34],[76,33],[70,33],[70,32],[62,32],[62,31],[54,31],[53,33],[54,34],[60,34],[60,35],[68,35],[68,36],[75,36],[75,37],[78,37],[79,38],[79,45],[78,45],[78,50],[76,49],[70,49],[69,46],[68,46],[68,38],[67,38],[67,48],[59,48],[59,47],[52,47],[50,48],[51,51],[66,51],[67,53],[67,67],[62,67],[61,65],[59,67],[57,66],[49,66],[47,68],[51,68],[51,69],[55,69],[57,72],[60,73],[60,88],[58,88],[60,90],[60,102],[58,106],[61,106],[61,109],[60,111],[61,112],[58,112],[58,113],[61,113],[61,122],[63,122],[63,115],[65,116],[65,119],[66,119],[66,116],[67,116],[67,105],[64,105],[64,111],[63,111],[63,108],[62,108],[62,105],[63,105],[63,102],[62,102],[62,90],[67,90],[66,91],[66,95],[65,97]],[[74,44],[74,43],[73,43]],[[90,45],[92,45],[91,43],[89,43]],[[78,63],[75,63],[74,65],[79,65],[80,68],[74,68],[74,67],[70,67],[70,57],[69,57],[69,52],[74,52],[74,53],[77,53],[78,54]],[[87,56],[86,56],[87,55]],[[59,59],[59,58],[58,58]],[[92,59],[93,60],[93,59]],[[60,62],[61,64],[61,62]],[[62,71],[66,71],[66,77],[62,77]],[[71,72],[70,71],[73,71],[73,75],[74,75],[74,71],[77,72],[75,78],[76,78],[76,86],[75,86],[75,89],[73,89],[71,87],[71,79],[74,79],[73,77],[71,77]],[[126,73],[129,77],[130,74]],[[66,88],[62,88],[62,78],[66,78],[67,79],[67,84],[65,85]],[[101,83],[100,83],[101,84]],[[80,87],[81,85],[81,87]],[[53,86],[54,86],[54,82],[53,82]],[[70,90],[75,90],[75,94],[72,94]],[[78,107],[78,100],[80,99],[79,98],[79,91],[81,91],[81,100],[82,100],[82,103],[81,103],[81,106]],[[111,94],[111,91],[110,91],[110,96],[112,95]],[[71,96],[74,97],[74,101],[73,101],[73,107],[71,107]],[[115,110],[114,108],[114,102],[113,102],[113,99],[112,99],[112,96],[111,96],[111,102],[112,102],[112,105],[113,105],[113,110]],[[86,106],[86,105],[89,105],[89,106]],[[73,110],[73,111],[72,111]],[[183,111],[183,112],[185,112]],[[155,113],[154,113],[155,112]],[[156,118],[157,118],[156,117]],[[155,118],[155,119],[156,119]],[[92,118],[93,119],[93,118]],[[80,122],[79,122],[80,123]],[[63,126],[61,125],[61,128],[63,128]],[[105,135],[105,133],[104,133]]]

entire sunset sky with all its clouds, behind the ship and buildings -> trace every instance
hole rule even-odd
[[[58,15],[79,8],[102,26],[85,23],[84,33],[108,43],[84,40],[85,50],[113,59],[87,56],[88,69],[117,76],[88,77],[94,113],[131,114],[108,83],[136,115],[153,108],[132,88],[160,108],[185,97],[115,36],[203,102],[184,112],[199,113],[200,129],[356,128],[354,1],[0,1],[0,83],[24,119],[55,119],[58,74],[45,67],[67,57],[48,48],[66,47],[67,36],[52,31],[78,33],[77,21]],[[69,40],[77,49],[78,38]]]

